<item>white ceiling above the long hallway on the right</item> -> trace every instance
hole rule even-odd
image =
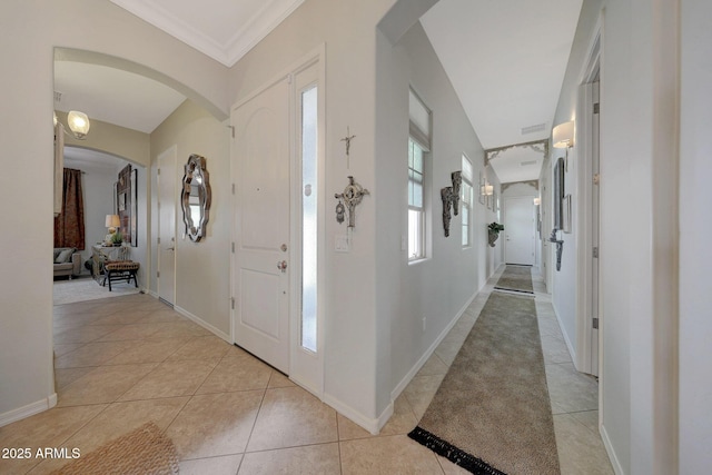
[[[423,16],[485,149],[551,136],[581,6],[582,0],[439,0]],[[513,147],[491,165],[502,182],[535,180],[543,158],[531,147]]]

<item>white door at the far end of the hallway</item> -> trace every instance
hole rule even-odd
[[[534,265],[533,197],[512,197],[504,201],[504,255],[507,264]]]

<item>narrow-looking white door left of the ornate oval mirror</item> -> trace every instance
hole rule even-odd
[[[158,157],[158,298],[176,303],[176,162],[174,146]]]

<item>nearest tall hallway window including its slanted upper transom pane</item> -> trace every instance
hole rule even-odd
[[[408,260],[426,255],[425,157],[431,149],[431,111],[411,89],[408,138]]]

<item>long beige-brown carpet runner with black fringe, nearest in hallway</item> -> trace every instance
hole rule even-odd
[[[408,434],[474,474],[558,474],[534,298],[493,291]]]

